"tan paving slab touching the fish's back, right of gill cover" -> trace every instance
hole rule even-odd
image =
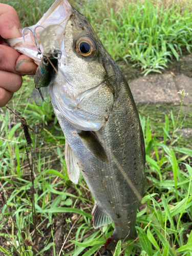
[[[178,104],[180,102],[178,89],[171,74],[147,75],[128,83],[136,104],[163,102]]]

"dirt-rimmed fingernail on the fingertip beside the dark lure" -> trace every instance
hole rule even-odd
[[[19,60],[15,65],[15,70],[21,75],[34,75],[36,68],[36,64],[29,59]]]

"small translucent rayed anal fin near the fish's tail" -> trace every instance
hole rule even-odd
[[[95,204],[93,208],[92,216],[94,228],[102,227],[106,224],[112,223],[111,218],[105,214],[105,212],[102,211],[102,209],[97,204]]]

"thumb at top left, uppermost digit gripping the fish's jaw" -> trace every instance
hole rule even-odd
[[[20,37],[21,31],[22,26],[15,9],[9,5],[0,4],[0,35],[5,39],[11,39]]]

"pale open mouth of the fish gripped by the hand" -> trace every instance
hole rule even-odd
[[[71,5],[69,4],[69,2],[67,0],[63,0],[63,1],[56,0],[55,3],[49,8],[49,10],[44,14],[44,16],[42,16],[42,18],[37,22],[37,24],[29,27],[29,29],[33,31],[35,30],[36,39],[38,41],[41,52],[44,52],[44,49],[42,48],[40,39],[39,39],[40,33],[42,32],[42,30],[52,24],[56,24],[56,25],[62,26],[65,33],[66,24],[70,16],[71,16]],[[32,59],[34,59],[37,65],[39,64],[40,59],[38,58],[38,51],[37,51],[34,35],[30,30],[25,30],[24,38],[19,37],[15,39],[8,39],[7,43],[18,52],[26,54]],[[66,53],[65,53],[64,40],[61,46],[61,51],[63,56],[65,56]]]

